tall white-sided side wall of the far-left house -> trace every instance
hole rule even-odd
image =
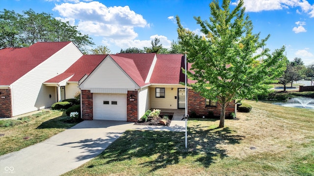
[[[64,72],[82,53],[73,44],[67,44],[46,61],[36,66],[12,84],[13,116],[51,107],[55,103],[55,88],[43,83]],[[49,95],[52,95],[50,98]],[[53,100],[53,101],[52,101]]]

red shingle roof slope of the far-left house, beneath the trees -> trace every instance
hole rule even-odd
[[[11,85],[71,42],[38,42],[25,48],[0,50],[0,85]]]

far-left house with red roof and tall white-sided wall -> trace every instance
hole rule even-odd
[[[51,107],[57,89],[43,83],[64,72],[83,54],[72,42],[39,42],[0,50],[0,117]]]

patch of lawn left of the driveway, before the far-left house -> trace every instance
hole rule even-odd
[[[69,119],[62,111],[49,110],[18,120],[0,120],[0,155],[44,141],[77,124],[64,122]]]

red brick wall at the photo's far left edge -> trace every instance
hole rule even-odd
[[[11,89],[0,89],[0,117],[12,117]]]

